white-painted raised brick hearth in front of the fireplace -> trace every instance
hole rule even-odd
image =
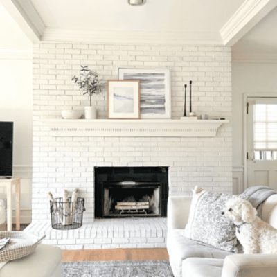
[[[62,249],[154,248],[166,247],[166,218],[95,220],[80,229],[60,231],[49,222],[35,222],[25,231],[46,235],[44,243]]]

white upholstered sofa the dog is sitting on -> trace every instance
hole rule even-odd
[[[175,277],[276,277],[277,255],[234,254],[182,235],[188,222],[191,197],[168,198],[167,248]],[[277,229],[277,195],[262,204],[262,220]]]

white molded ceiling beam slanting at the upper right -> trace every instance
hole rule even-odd
[[[276,0],[246,0],[220,30],[225,45],[233,46],[265,15],[277,6]]]

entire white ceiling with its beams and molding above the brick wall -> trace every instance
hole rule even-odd
[[[0,0],[1,44],[32,42],[212,44],[276,53],[276,0]],[[10,15],[10,16],[9,16]],[[18,28],[18,26],[21,28]],[[9,42],[10,41],[10,42]]]

